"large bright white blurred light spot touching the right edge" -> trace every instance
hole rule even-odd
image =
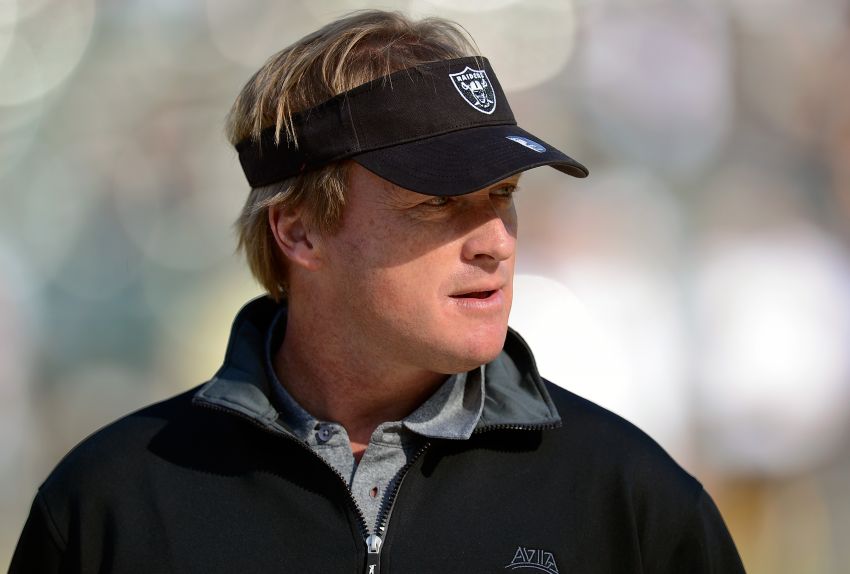
[[[700,416],[719,464],[796,474],[850,419],[850,265],[813,229],[718,245],[700,262]]]

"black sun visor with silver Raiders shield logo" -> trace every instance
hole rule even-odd
[[[486,58],[430,62],[376,78],[236,145],[251,187],[352,159],[401,187],[462,195],[515,173],[550,165],[587,169],[517,126]]]

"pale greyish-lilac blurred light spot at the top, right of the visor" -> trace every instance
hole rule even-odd
[[[602,2],[578,54],[597,145],[673,173],[703,167],[733,115],[728,31],[710,2]]]

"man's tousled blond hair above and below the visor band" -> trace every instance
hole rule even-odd
[[[292,114],[375,78],[427,62],[478,55],[474,41],[454,22],[414,21],[399,12],[366,10],[331,22],[284,48],[251,77],[227,117],[230,143],[275,126],[297,145]],[[273,206],[301,209],[308,226],[333,233],[345,204],[348,162],[335,162],[251,190],[236,221],[237,249],[245,252],[257,281],[275,300],[286,296],[286,258],[268,222]]]

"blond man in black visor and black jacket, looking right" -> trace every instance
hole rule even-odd
[[[700,484],[508,329],[519,174],[587,170],[455,25],[329,24],[228,129],[268,296],[211,381],[59,464],[12,572],[743,571]]]

